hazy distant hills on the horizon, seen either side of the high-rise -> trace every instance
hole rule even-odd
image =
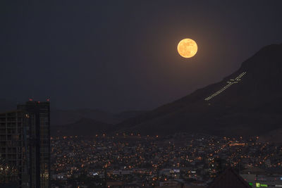
[[[51,106],[52,107],[52,106]],[[0,99],[0,113],[13,111],[17,103]],[[111,132],[113,125],[145,111],[109,113],[99,109],[58,110],[51,108],[51,135],[92,135]]]

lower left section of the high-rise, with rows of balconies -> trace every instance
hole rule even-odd
[[[27,186],[27,153],[24,137],[26,119],[23,111],[0,113],[1,187],[4,183]]]

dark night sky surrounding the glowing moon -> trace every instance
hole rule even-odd
[[[0,98],[152,109],[282,42],[282,1],[1,1]],[[181,58],[180,39],[198,44]]]

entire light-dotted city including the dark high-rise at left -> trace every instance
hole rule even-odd
[[[282,187],[282,144],[258,136],[50,137],[49,101],[27,101],[0,120],[0,175],[8,186],[207,187],[232,168],[252,187]]]

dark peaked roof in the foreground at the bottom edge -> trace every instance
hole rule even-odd
[[[208,188],[251,188],[251,186],[245,182],[243,177],[240,177],[238,173],[232,168],[226,169],[221,175],[216,177],[214,182],[209,185]]]

